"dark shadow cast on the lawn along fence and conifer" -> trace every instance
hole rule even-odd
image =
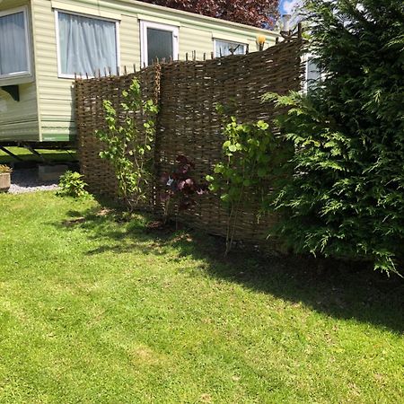
[[[191,256],[203,260],[201,270],[208,277],[225,279],[291,303],[303,303],[335,319],[371,323],[404,333],[404,282],[400,277],[389,278],[358,265],[341,269],[330,260],[268,257],[240,249],[234,249],[224,259],[221,238],[186,229],[148,229],[146,224],[152,219],[147,215],[135,215],[130,223],[124,223],[122,214],[113,207],[91,209],[84,215],[71,211],[68,215],[71,219],[58,227],[68,231],[69,227],[80,226],[100,242],[100,247],[87,252],[89,256],[108,251],[149,255],[159,250],[163,254],[165,249],[174,248],[179,251],[178,259]],[[119,221],[122,225],[117,226]]]

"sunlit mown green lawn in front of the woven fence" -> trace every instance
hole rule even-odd
[[[0,195],[1,403],[402,402],[402,283],[145,223]]]

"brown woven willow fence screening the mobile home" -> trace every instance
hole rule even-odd
[[[101,77],[76,81],[76,119],[81,168],[90,189],[98,194],[116,196],[117,184],[110,167],[101,162],[101,145],[94,138],[96,129],[104,127],[102,100],[118,106],[120,93],[136,76],[145,99],[159,102],[155,144],[155,183],[151,205],[162,214],[158,195],[164,171],[172,171],[177,155],[184,154],[195,162],[193,177],[204,182],[222,159],[222,119],[215,105],[228,107],[240,122],[263,119],[271,123],[276,113],[270,103],[262,103],[267,92],[285,93],[300,90],[302,40],[281,42],[262,52],[222,57],[204,62],[172,62],[148,67],[137,74]],[[257,221],[258,204],[251,198],[238,214],[235,240],[259,243],[266,240],[273,215]],[[228,212],[218,195],[209,193],[198,198],[197,206],[180,213],[180,220],[208,233],[225,235]]]

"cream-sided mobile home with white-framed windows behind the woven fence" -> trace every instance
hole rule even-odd
[[[75,74],[257,51],[273,31],[133,0],[0,2],[0,144],[73,142]]]

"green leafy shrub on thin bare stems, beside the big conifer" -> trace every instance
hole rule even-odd
[[[224,114],[224,108],[218,110]],[[238,123],[234,117],[224,118],[225,142],[223,162],[215,164],[212,175],[207,175],[209,189],[218,192],[228,207],[226,233],[227,254],[233,245],[233,238],[239,213],[251,200],[265,206],[268,200],[268,182],[277,172],[276,166],[284,154],[273,153],[277,144],[268,123]],[[257,200],[258,199],[258,200]],[[260,210],[260,209],[259,209]],[[259,212],[257,212],[259,214]]]

